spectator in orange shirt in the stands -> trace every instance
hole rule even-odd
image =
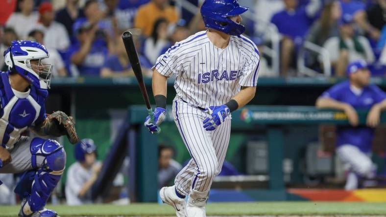
[[[168,0],[151,0],[138,9],[134,26],[149,37],[154,23],[160,18],[165,18],[169,23],[175,23],[179,20],[179,14],[174,7],[169,5]]]

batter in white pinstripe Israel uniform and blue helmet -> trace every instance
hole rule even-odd
[[[240,14],[247,10],[237,0],[206,0],[201,15],[208,30],[176,43],[154,66],[157,108],[154,124],[147,117],[145,126],[154,132],[165,119],[167,79],[174,74],[172,112],[192,156],[175,185],[160,191],[177,217],[206,216],[209,190],[228,148],[231,112],[255,96],[260,56],[256,45],[241,35],[245,27]]]

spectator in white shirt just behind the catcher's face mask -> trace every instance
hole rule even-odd
[[[40,29],[34,29],[28,34],[28,40],[34,40],[38,43],[44,44],[45,34]],[[62,57],[55,48],[46,47],[49,53],[49,57],[44,60],[45,64],[51,64],[52,67],[52,77],[64,77],[67,76],[67,70],[62,60]]]

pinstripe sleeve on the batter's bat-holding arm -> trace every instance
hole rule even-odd
[[[173,73],[177,73],[181,69],[181,65],[177,65],[177,58],[180,55],[177,55],[178,49],[174,49],[177,46],[177,43],[169,48],[169,50],[158,57],[157,62],[155,64],[155,69],[166,77],[170,77]]]

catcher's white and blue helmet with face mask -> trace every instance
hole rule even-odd
[[[43,64],[42,60],[48,58],[46,47],[32,41],[12,41],[4,52],[4,62],[9,70],[19,73],[29,83],[38,88],[49,88],[52,65]],[[32,69],[31,60],[39,60],[35,70]]]

